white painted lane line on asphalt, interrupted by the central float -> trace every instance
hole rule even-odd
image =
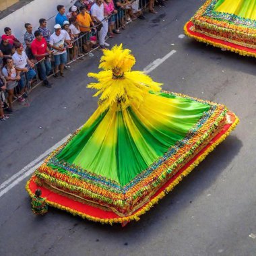
[[[166,59],[168,59],[174,53],[176,53],[176,51],[172,50],[172,51],[170,51],[170,53],[168,53],[167,55],[162,57],[162,59],[156,59],[155,61],[150,63],[150,65],[145,67],[143,69],[143,71],[147,74],[150,73],[151,71],[156,69],[156,67],[161,65],[164,61],[166,61]],[[81,129],[82,127],[83,127],[83,125],[81,127],[79,127],[79,129]],[[69,134],[66,137],[64,137],[63,139],[61,139],[61,141],[57,142],[53,147],[49,148],[49,150],[46,150],[46,152],[44,152],[43,154],[38,156],[38,158],[36,158],[34,161],[30,162],[28,165],[26,165],[24,168],[22,168],[22,170],[20,170],[19,172],[17,172],[13,176],[11,176],[9,179],[7,179],[5,182],[3,182],[0,185],[0,197],[5,195],[5,193],[7,193],[10,189],[15,187],[15,185],[18,185],[18,183],[20,183],[26,177],[28,177],[30,174],[32,174],[36,170],[36,168],[38,168],[44,162],[44,160],[42,160],[42,159],[45,158],[47,155],[49,155],[53,150],[55,150],[56,148],[61,146],[67,140],[67,138],[69,136],[71,136],[71,134]]]

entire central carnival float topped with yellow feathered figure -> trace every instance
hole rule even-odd
[[[98,108],[26,184],[52,207],[102,224],[139,220],[238,124],[226,106],[165,92],[131,71],[129,49],[104,50]],[[171,195],[168,195],[171,197]]]

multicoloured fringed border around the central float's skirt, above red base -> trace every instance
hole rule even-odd
[[[165,92],[172,94],[170,92]],[[44,164],[36,170],[35,175],[40,183],[46,187],[53,187],[57,191],[67,193],[97,204],[98,207],[107,207],[120,217],[129,216],[139,207],[144,205],[152,195],[158,191],[162,185],[176,174],[187,162],[191,160],[202,148],[210,142],[212,137],[218,133],[226,122],[226,107],[224,105],[199,100],[182,94],[182,96],[198,102],[210,104],[211,108],[205,112],[205,116],[191,129],[187,137],[170,148],[147,170],[137,175],[129,184],[124,187],[118,186],[115,181],[92,174],[87,170],[79,170],[77,166],[68,166],[63,163],[63,169],[69,172],[57,172],[52,168],[58,166],[58,162],[52,162],[55,155],[69,143],[79,130],[69,137],[69,139],[57,150],[46,158]],[[75,172],[74,172],[75,171]],[[85,175],[85,177],[84,177]]]

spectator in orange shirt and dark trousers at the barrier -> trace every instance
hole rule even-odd
[[[92,50],[92,43],[90,42],[90,26],[94,26],[92,18],[89,13],[86,12],[86,6],[81,6],[79,8],[80,13],[77,15],[76,22],[81,31],[82,43],[84,48],[84,53],[88,53]]]

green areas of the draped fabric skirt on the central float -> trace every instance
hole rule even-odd
[[[117,129],[117,145],[113,145],[114,148],[102,148],[103,144],[97,145],[91,141],[90,150],[88,148],[84,150],[86,143],[94,136],[94,131],[104,119],[105,113],[98,117],[91,127],[86,127],[75,135],[57,156],[58,160],[73,164],[77,157],[82,159],[85,156],[84,164],[80,165],[82,168],[102,175],[106,179],[112,179],[120,185],[126,185],[162,156],[168,148],[183,139],[189,129],[210,108],[208,104],[187,98],[165,93],[158,95],[172,99],[170,104],[173,104],[176,110],[167,123],[160,120],[157,123],[153,122],[153,126],[150,118],[154,117],[148,117],[148,123],[143,123],[131,108],[127,108],[125,117],[129,119],[129,125],[124,119],[124,113],[118,112],[115,121],[117,123],[111,126]],[[137,135],[136,138],[131,135],[132,133]],[[51,167],[61,173],[68,172],[53,165]],[[76,174],[71,176],[77,177]]]

